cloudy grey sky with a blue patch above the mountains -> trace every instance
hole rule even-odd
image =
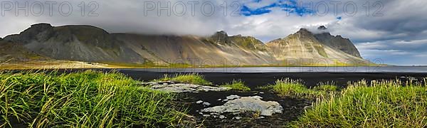
[[[226,31],[267,43],[323,25],[332,35],[350,38],[369,60],[427,65],[424,0],[1,0],[0,7],[0,37],[51,23],[92,25],[110,33],[209,36]]]

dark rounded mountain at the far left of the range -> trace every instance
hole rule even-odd
[[[40,23],[4,39],[23,43],[34,53],[58,60],[144,63],[142,56],[120,46],[110,33],[93,26],[53,27]]]

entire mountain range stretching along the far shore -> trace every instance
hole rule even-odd
[[[6,36],[4,41],[45,58],[97,63],[230,66],[283,65],[286,59],[304,60],[292,65],[312,64],[305,61],[319,58],[327,62],[322,65],[363,61],[348,39],[313,34],[304,28],[265,44],[251,36],[228,36],[225,31],[206,37],[142,35],[108,33],[95,26],[39,23]]]

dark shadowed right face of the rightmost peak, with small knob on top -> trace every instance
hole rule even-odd
[[[325,31],[327,28],[325,26],[320,26],[318,30]],[[326,46],[330,46],[331,48],[342,50],[344,53],[362,58],[359,50],[357,50],[356,46],[354,46],[352,41],[350,41],[348,38],[342,38],[342,36],[332,36],[328,32],[315,34],[315,38],[317,38],[320,43]]]

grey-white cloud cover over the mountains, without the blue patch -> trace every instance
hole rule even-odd
[[[31,0],[13,1],[19,1],[20,3],[24,1],[31,2]],[[193,0],[170,1],[174,4],[176,1],[186,3]],[[416,53],[423,53],[425,50],[422,48],[426,48],[423,46],[427,46],[427,1],[377,0],[384,5],[381,10],[384,16],[366,16],[363,4],[369,0],[352,1],[358,6],[355,16],[345,15],[342,12],[342,6],[339,6],[337,16],[334,16],[332,5],[329,6],[330,13],[327,16],[298,16],[297,14],[288,16],[287,12],[280,7],[270,8],[271,12],[268,14],[229,16],[231,11],[234,11],[231,6],[228,6],[228,16],[223,16],[221,4],[224,1],[226,0],[211,1],[216,5],[216,13],[213,16],[201,14],[199,8],[203,1],[199,1],[199,8],[196,8],[195,12],[196,16],[191,16],[189,5],[186,6],[185,16],[174,16],[174,14],[172,16],[157,16],[156,11],[152,11],[149,16],[144,16],[144,1],[97,0],[100,5],[97,13],[100,16],[95,17],[80,16],[78,4],[81,1],[69,1],[74,7],[73,15],[71,16],[60,16],[58,13],[54,14],[54,16],[14,16],[14,12],[8,11],[6,16],[0,16],[0,23],[2,24],[0,37],[19,33],[33,23],[46,22],[52,23],[54,26],[88,24],[105,28],[110,33],[208,36],[215,31],[224,30],[230,35],[255,36],[266,42],[288,36],[302,27],[316,28],[317,26],[325,25],[333,35],[342,35],[344,38],[350,38],[354,43],[357,43],[357,48],[365,56],[379,54],[403,55],[405,52],[408,53],[406,55],[415,56]],[[300,1],[302,0],[297,0],[297,3]],[[310,1],[319,2],[321,0],[304,0],[303,2]],[[350,0],[341,2],[344,4],[347,1]],[[227,1],[228,4],[232,2]],[[278,1],[262,0],[255,2],[253,0],[244,0],[240,2],[251,9],[257,9]],[[371,4],[374,2],[370,1]],[[376,8],[371,5],[371,11],[369,12],[372,14],[375,10]],[[55,12],[57,12],[57,9]],[[338,16],[342,17],[342,20],[337,20]],[[420,55],[417,56],[420,57]]]

